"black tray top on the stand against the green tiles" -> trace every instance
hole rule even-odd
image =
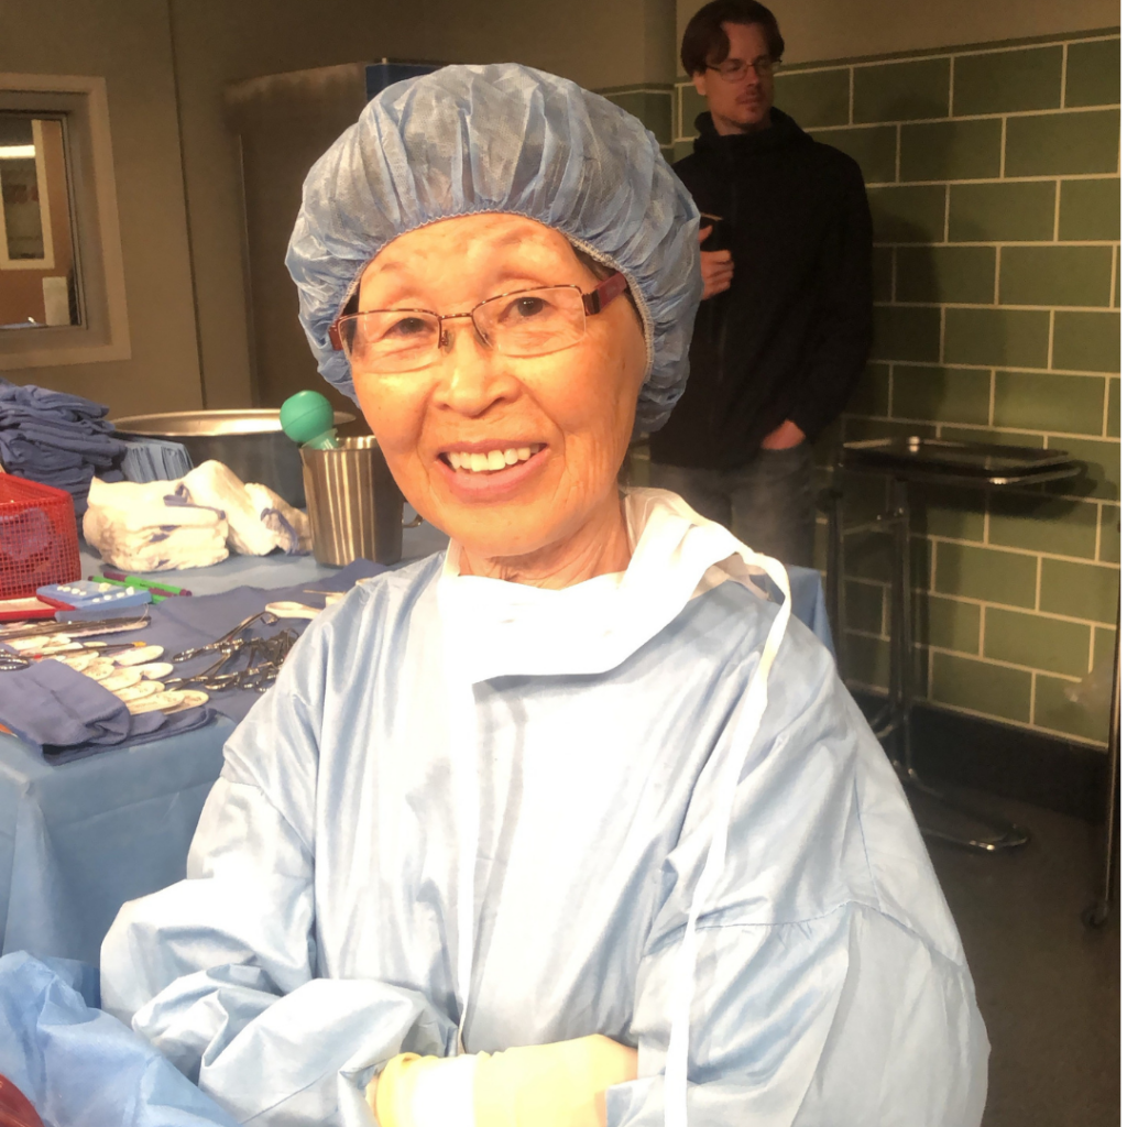
[[[942,438],[871,438],[846,442],[845,465],[897,469],[919,473],[960,474],[968,478],[1015,478],[1065,470],[1072,459],[1064,450],[1003,446],[985,442],[944,442]]]

